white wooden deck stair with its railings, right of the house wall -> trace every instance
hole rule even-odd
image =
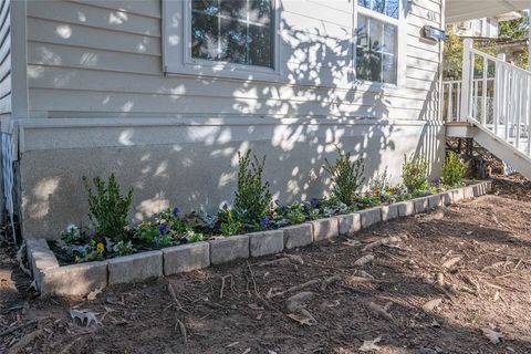
[[[465,40],[462,81],[444,83],[447,135],[472,137],[531,178],[531,72]]]

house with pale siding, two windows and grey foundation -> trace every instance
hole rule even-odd
[[[86,221],[82,177],[112,173],[135,188],[136,220],[214,209],[246,148],[267,155],[287,201],[326,191],[335,144],[367,177],[387,166],[398,181],[404,154],[420,153],[437,176],[442,43],[424,27],[522,8],[471,2],[3,0],[8,210],[24,237],[58,237]]]

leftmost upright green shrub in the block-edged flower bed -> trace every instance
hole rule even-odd
[[[122,196],[114,174],[106,184],[100,177],[93,178],[95,192],[86,177],[83,177],[83,183],[88,194],[88,216],[95,222],[96,232],[112,240],[127,240],[127,212],[133,199],[133,188]]]

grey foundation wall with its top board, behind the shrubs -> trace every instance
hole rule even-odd
[[[435,122],[106,122],[21,127],[18,177],[24,237],[52,239],[71,222],[88,222],[82,176],[106,178],[114,173],[124,191],[134,187],[131,218],[137,222],[167,207],[214,211],[230,204],[238,150],[267,155],[264,177],[273,198],[289,202],[327,192],[322,166],[325,157],[337,156],[336,143],[365,157],[367,180],[387,166],[394,183],[400,180],[404,154],[426,155],[437,176],[445,148],[445,128]]]

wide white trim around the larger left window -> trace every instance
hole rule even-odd
[[[191,58],[191,1],[163,0],[163,70],[167,75],[280,81],[280,0],[273,2],[273,67]]]

